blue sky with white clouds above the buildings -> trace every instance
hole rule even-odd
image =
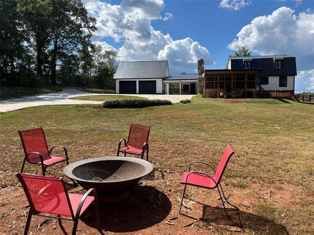
[[[225,69],[252,55],[296,57],[295,91],[314,92],[314,0],[82,0],[97,20],[92,41],[117,61],[168,60],[172,76]]]

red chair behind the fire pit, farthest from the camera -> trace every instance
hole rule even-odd
[[[126,141],[126,139],[122,138],[119,141],[117,156],[122,152],[124,156],[127,156],[128,153],[139,155],[143,159],[146,152],[146,161],[148,161],[148,137],[150,130],[150,126],[132,123],[128,140]],[[122,142],[124,142],[124,147],[121,147]]]

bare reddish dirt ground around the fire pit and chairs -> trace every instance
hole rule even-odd
[[[283,225],[257,215],[256,205],[265,203],[278,208],[289,207],[291,202],[303,196],[300,188],[290,185],[274,187],[256,184],[248,190],[222,184],[228,201],[238,208],[228,209],[230,220],[225,215],[216,189],[188,187],[186,196],[189,199],[184,199],[185,207],[180,214],[178,198],[183,192],[180,180],[179,173],[154,170],[131,189],[128,198],[100,204],[101,231],[95,228],[94,208],[90,208],[79,220],[77,234],[289,234]],[[68,188],[72,193],[85,192],[79,186],[73,187],[71,181]],[[21,186],[1,188],[0,206],[0,234],[23,234],[29,207]],[[62,232],[56,219],[33,216],[28,234],[71,234],[73,222],[63,220],[62,224],[66,233]]]

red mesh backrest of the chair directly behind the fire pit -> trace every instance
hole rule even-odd
[[[135,148],[142,148],[143,143],[148,142],[150,126],[131,124],[127,144]]]

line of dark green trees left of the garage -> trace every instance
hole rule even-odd
[[[81,0],[1,0],[0,11],[1,86],[114,87],[117,53],[91,42]]]

